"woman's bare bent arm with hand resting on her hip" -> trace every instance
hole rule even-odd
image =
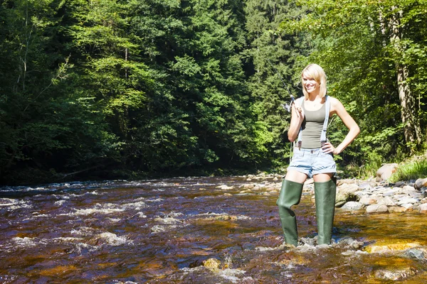
[[[331,98],[331,114],[337,114],[339,118],[344,122],[345,126],[349,129],[347,136],[345,136],[344,140],[335,148],[331,143],[325,143],[325,146],[322,148],[325,153],[334,153],[339,154],[344,151],[347,146],[356,138],[359,134],[360,129],[357,125],[356,121],[349,115],[347,110],[344,108],[341,102],[338,99]]]

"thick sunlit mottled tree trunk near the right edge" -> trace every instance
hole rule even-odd
[[[392,9],[396,9],[395,7]],[[403,48],[401,46],[402,31],[400,26],[400,18],[402,11],[397,11],[390,18],[390,41],[394,45],[394,50],[399,58],[396,59],[397,86],[399,89],[399,100],[401,103],[401,119],[404,123],[404,135],[406,143],[413,146],[421,144],[421,126],[418,119],[418,107],[416,106],[416,98],[413,97],[411,88],[407,83],[408,66],[401,60]],[[414,145],[415,144],[415,145]],[[413,150],[413,149],[411,149]]]

